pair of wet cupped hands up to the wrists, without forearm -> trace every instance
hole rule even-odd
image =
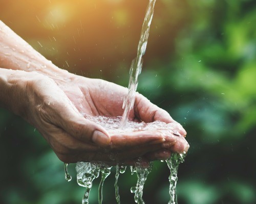
[[[69,72],[53,80],[37,72],[16,71],[12,80],[20,101],[24,101],[20,115],[36,127],[65,163],[100,161],[134,165],[139,161],[147,166],[152,160],[169,158],[171,152],[188,149],[186,140],[172,131],[109,133],[84,117],[121,116],[123,98],[127,95],[127,88],[122,86]],[[186,135],[166,111],[139,93],[129,119],[175,123],[177,132]]]

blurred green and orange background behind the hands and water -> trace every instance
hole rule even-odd
[[[0,19],[57,66],[127,86],[148,0],[0,0]],[[138,91],[187,130],[179,203],[256,203],[256,2],[157,0]],[[40,134],[0,109],[0,203],[81,203]],[[69,168],[75,178],[75,165]],[[146,203],[167,203],[169,170],[155,162]],[[95,181],[90,203],[97,203]],[[136,175],[120,175],[134,203]],[[103,203],[115,203],[114,170]]]

